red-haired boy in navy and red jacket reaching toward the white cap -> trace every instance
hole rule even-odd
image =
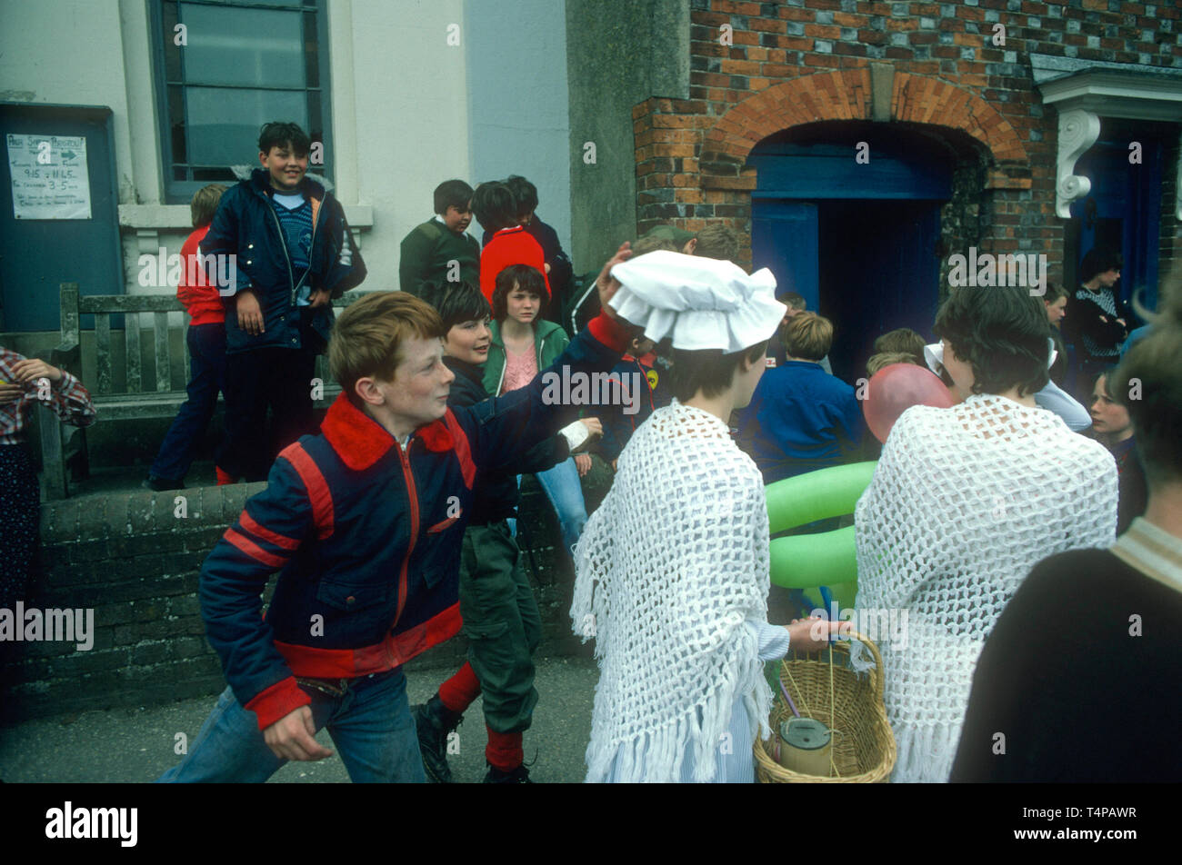
[[[604,308],[618,288],[600,274]],[[322,434],[286,448],[201,572],[201,607],[229,688],[163,781],[265,781],[332,752],[353,781],[422,781],[402,664],[454,636],[461,539],[478,470],[514,464],[573,421],[541,377],[470,408],[447,405],[439,314],[404,292],[351,306],[330,346],[343,392]],[[612,366],[630,330],[606,312],[558,359]],[[265,618],[261,594],[279,571]]]

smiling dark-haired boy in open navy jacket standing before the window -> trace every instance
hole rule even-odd
[[[314,431],[312,377],[332,327],[331,301],[365,279],[340,203],[304,176],[310,147],[294,123],[265,125],[262,167],[226,191],[199,249],[207,268],[216,260],[209,256],[220,259],[210,275],[226,305],[219,483],[261,481],[280,449]]]

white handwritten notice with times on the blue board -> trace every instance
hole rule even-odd
[[[19,220],[89,220],[86,139],[63,135],[9,135],[12,209]]]

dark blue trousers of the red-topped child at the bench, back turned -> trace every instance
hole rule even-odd
[[[217,394],[226,390],[226,326],[190,326],[186,342],[189,346],[189,398],[173,418],[149,469],[152,477],[168,481],[184,480],[197,442],[214,416]]]

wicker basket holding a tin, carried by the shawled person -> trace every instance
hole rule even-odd
[[[787,689],[797,708],[810,717],[827,724],[833,735],[833,760],[830,776],[804,775],[786,769],[775,762],[771,750],[775,747],[780,722],[792,716],[781,695],[775,695],[772,707],[772,739],[765,743],[755,736],[755,775],[764,783],[879,783],[895,768],[895,736],[886,722],[883,707],[883,659],[878,646],[860,633],[850,635],[860,639],[875,658],[870,676],[857,676],[850,669],[850,644],[839,640],[831,645],[832,679],[830,662],[793,657],[780,663],[780,682]],[[791,676],[788,675],[791,672]],[[830,717],[830,682],[832,681],[833,718]],[[833,767],[837,774],[832,774]]]

